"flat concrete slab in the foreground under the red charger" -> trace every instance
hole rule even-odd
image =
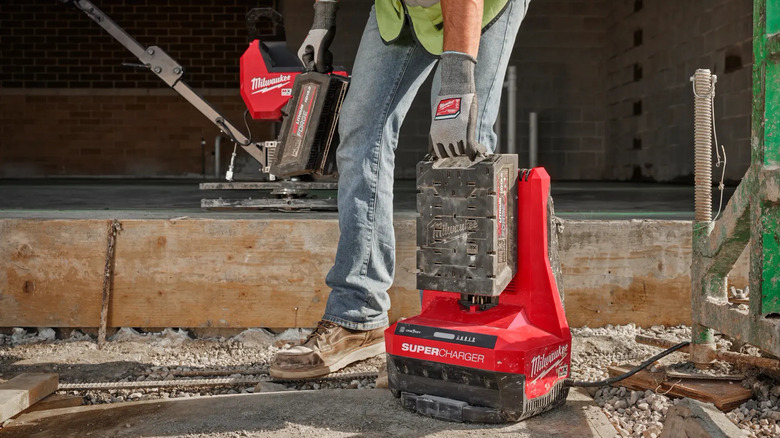
[[[386,390],[295,391],[83,406],[25,414],[0,438],[615,436],[584,392],[520,423],[448,423],[404,411]]]

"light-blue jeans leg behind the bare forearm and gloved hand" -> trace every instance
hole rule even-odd
[[[482,34],[479,41],[477,67],[474,70],[480,116],[477,123],[477,141],[491,152],[496,150],[497,136],[493,125],[496,124],[501,106],[501,91],[504,88],[506,67],[512,55],[517,31],[525,18],[530,2],[531,0],[509,0],[507,9]],[[441,69],[437,68],[431,87],[431,112],[435,111],[440,88]]]

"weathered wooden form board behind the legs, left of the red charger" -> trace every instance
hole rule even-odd
[[[338,221],[122,220],[110,327],[312,327]],[[396,223],[395,320],[419,311],[414,221]],[[0,220],[0,326],[96,327],[105,221]],[[20,255],[22,254],[22,255]],[[32,285],[32,286],[25,286]]]

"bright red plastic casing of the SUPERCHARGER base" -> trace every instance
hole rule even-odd
[[[547,253],[550,177],[538,167],[518,178],[517,273],[484,311],[464,308],[460,294],[423,291],[422,312],[399,322],[497,337],[494,348],[385,332],[387,353],[425,361],[525,375],[529,399],[547,394],[569,376],[571,332]],[[524,177],[525,176],[525,177]]]

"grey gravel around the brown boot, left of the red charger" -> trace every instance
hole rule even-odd
[[[220,377],[268,378],[268,367],[280,348],[299,343],[310,333],[305,329],[289,329],[274,335],[263,329],[247,329],[236,336],[194,339],[183,329],[167,328],[161,332],[144,333],[121,328],[102,350],[94,340],[80,331],[65,339],[55,339],[50,328],[24,330],[15,328],[11,335],[0,335],[0,381],[8,375],[25,371],[49,371],[60,374],[61,383],[80,382],[143,382],[158,380],[190,380],[208,376],[186,376],[192,372],[217,371]],[[61,336],[62,337],[62,336]],[[21,360],[19,360],[21,358]],[[344,371],[377,372],[384,362],[379,356]],[[55,364],[55,365],[52,365]],[[255,390],[311,390],[329,388],[369,389],[375,379],[321,382],[289,382],[224,387],[137,388],[110,390],[59,391],[60,394],[81,395],[85,404],[123,401],[183,398],[220,394],[252,393]],[[263,386],[265,388],[263,388]]]

